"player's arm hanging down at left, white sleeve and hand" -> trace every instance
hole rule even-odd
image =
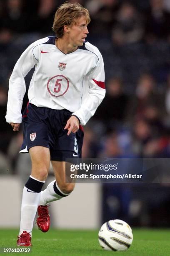
[[[26,92],[24,77],[37,63],[32,52],[33,47],[33,44],[30,45],[20,56],[9,80],[7,114],[5,118],[7,123],[10,123],[13,127],[14,131],[18,131],[20,123],[22,122],[21,109],[23,97]]]

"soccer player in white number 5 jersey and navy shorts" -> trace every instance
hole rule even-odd
[[[18,246],[31,246],[36,212],[38,227],[47,232],[48,203],[70,195],[74,189],[74,183],[65,183],[65,159],[81,157],[81,125],[94,115],[105,96],[102,56],[85,40],[89,22],[89,12],[80,4],[62,4],[52,27],[56,36],[28,46],[10,77],[6,121],[18,131],[23,120],[20,152],[29,151],[32,161],[23,189]],[[34,66],[29,103],[22,117],[24,77]],[[50,161],[55,180],[42,191]]]

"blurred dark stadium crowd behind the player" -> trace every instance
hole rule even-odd
[[[54,14],[57,6],[63,2],[0,0],[1,174],[18,172],[18,151],[23,138],[22,131],[13,133],[10,125],[5,122],[8,79],[15,62],[29,44],[39,38],[54,35],[51,29]],[[90,11],[87,41],[100,49],[105,63],[107,94],[95,116],[85,126],[82,156],[169,158],[170,1],[70,2],[78,2]],[[27,90],[32,72],[25,79]],[[27,101],[25,96],[23,109]],[[145,193],[143,200],[139,200],[139,197],[134,197],[136,187],[103,185],[103,198],[109,195],[104,200],[103,209],[108,213],[104,220],[108,220],[109,216],[116,217],[117,212],[120,212],[122,218],[126,216],[124,220],[127,220],[127,212],[130,211],[130,216],[134,215],[135,220],[141,209],[144,211],[143,216],[149,216],[148,209],[155,212],[155,207],[162,207],[162,211],[169,216],[166,210],[170,201],[169,187],[157,185],[154,188],[150,185],[150,188],[141,185],[141,190],[136,194],[140,195],[143,190]],[[152,206],[148,206],[148,195],[153,191],[155,195],[156,191],[159,192],[160,196],[157,195],[157,201],[152,200]],[[128,204],[132,198],[133,203]],[[156,218],[158,215],[155,221]],[[168,218],[161,225],[170,225]],[[155,225],[150,219],[143,219],[136,222],[139,225]]]

